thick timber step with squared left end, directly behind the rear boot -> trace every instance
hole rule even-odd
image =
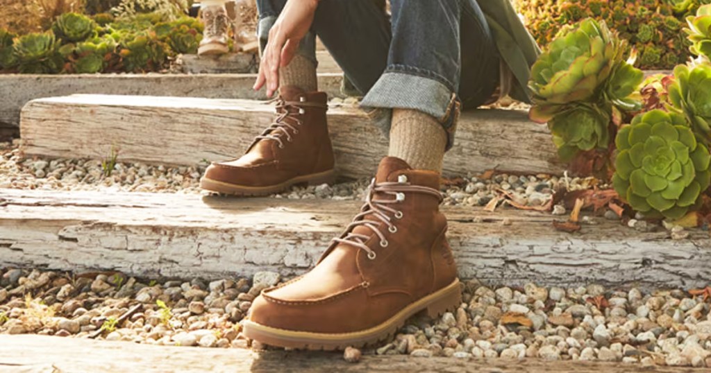
[[[369,177],[387,153],[387,140],[355,106],[331,107],[329,129],[342,176]],[[22,112],[22,150],[28,156],[105,158],[194,165],[244,153],[274,120],[271,104],[243,99],[199,99],[76,94],[29,102]],[[525,112],[464,112],[444,173],[496,168],[560,173],[545,126]]]

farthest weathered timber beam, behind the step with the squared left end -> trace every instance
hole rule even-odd
[[[254,74],[0,74],[0,124],[19,126],[20,110],[29,101],[67,94],[139,94],[265,99],[264,90],[252,90]],[[340,74],[319,75],[319,87],[341,97]]]

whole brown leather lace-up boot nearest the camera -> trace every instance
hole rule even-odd
[[[437,317],[459,306],[440,202],[438,173],[384,158],[346,232],[308,274],[262,291],[245,336],[297,349],[359,347],[394,334],[419,311]]]

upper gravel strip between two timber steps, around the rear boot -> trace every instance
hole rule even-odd
[[[207,163],[193,167],[149,166],[144,163],[117,162],[112,172],[101,161],[87,159],[23,158],[15,144],[0,143],[0,188],[48,190],[105,190],[151,193],[205,193],[199,180]],[[351,180],[335,185],[295,186],[273,198],[362,200],[370,179]],[[511,193],[521,205],[545,205],[552,191],[565,183],[571,190],[589,188],[591,179],[558,178],[550,175],[493,175],[478,178],[468,175],[442,188],[444,205],[484,206],[497,190]],[[556,210],[562,215],[560,207]]]

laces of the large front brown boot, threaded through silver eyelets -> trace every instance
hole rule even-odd
[[[394,198],[376,199],[376,193],[378,193],[378,195],[390,195]],[[363,249],[368,253],[368,259],[375,259],[378,254],[376,254],[373,249],[370,249],[370,247],[365,244],[365,242],[372,236],[353,233],[353,228],[360,226],[368,227],[368,229],[373,231],[373,233],[380,238],[380,247],[387,247],[388,242],[385,238],[385,234],[380,232],[380,224],[385,224],[387,226],[387,231],[390,233],[397,232],[395,220],[402,219],[404,214],[401,210],[397,210],[394,205],[402,203],[402,201],[405,200],[405,193],[424,193],[434,195],[437,197],[439,202],[442,202],[444,199],[439,190],[422,185],[412,185],[407,181],[407,176],[405,175],[400,175],[397,182],[375,183],[375,179],[373,179],[368,186],[367,192],[365,193],[365,204],[360,209],[360,213],[355,215],[353,222],[346,227],[346,232],[344,232],[341,237],[334,238],[332,242],[349,244],[357,247],[358,249]],[[368,215],[372,215],[377,220],[365,219]]]

